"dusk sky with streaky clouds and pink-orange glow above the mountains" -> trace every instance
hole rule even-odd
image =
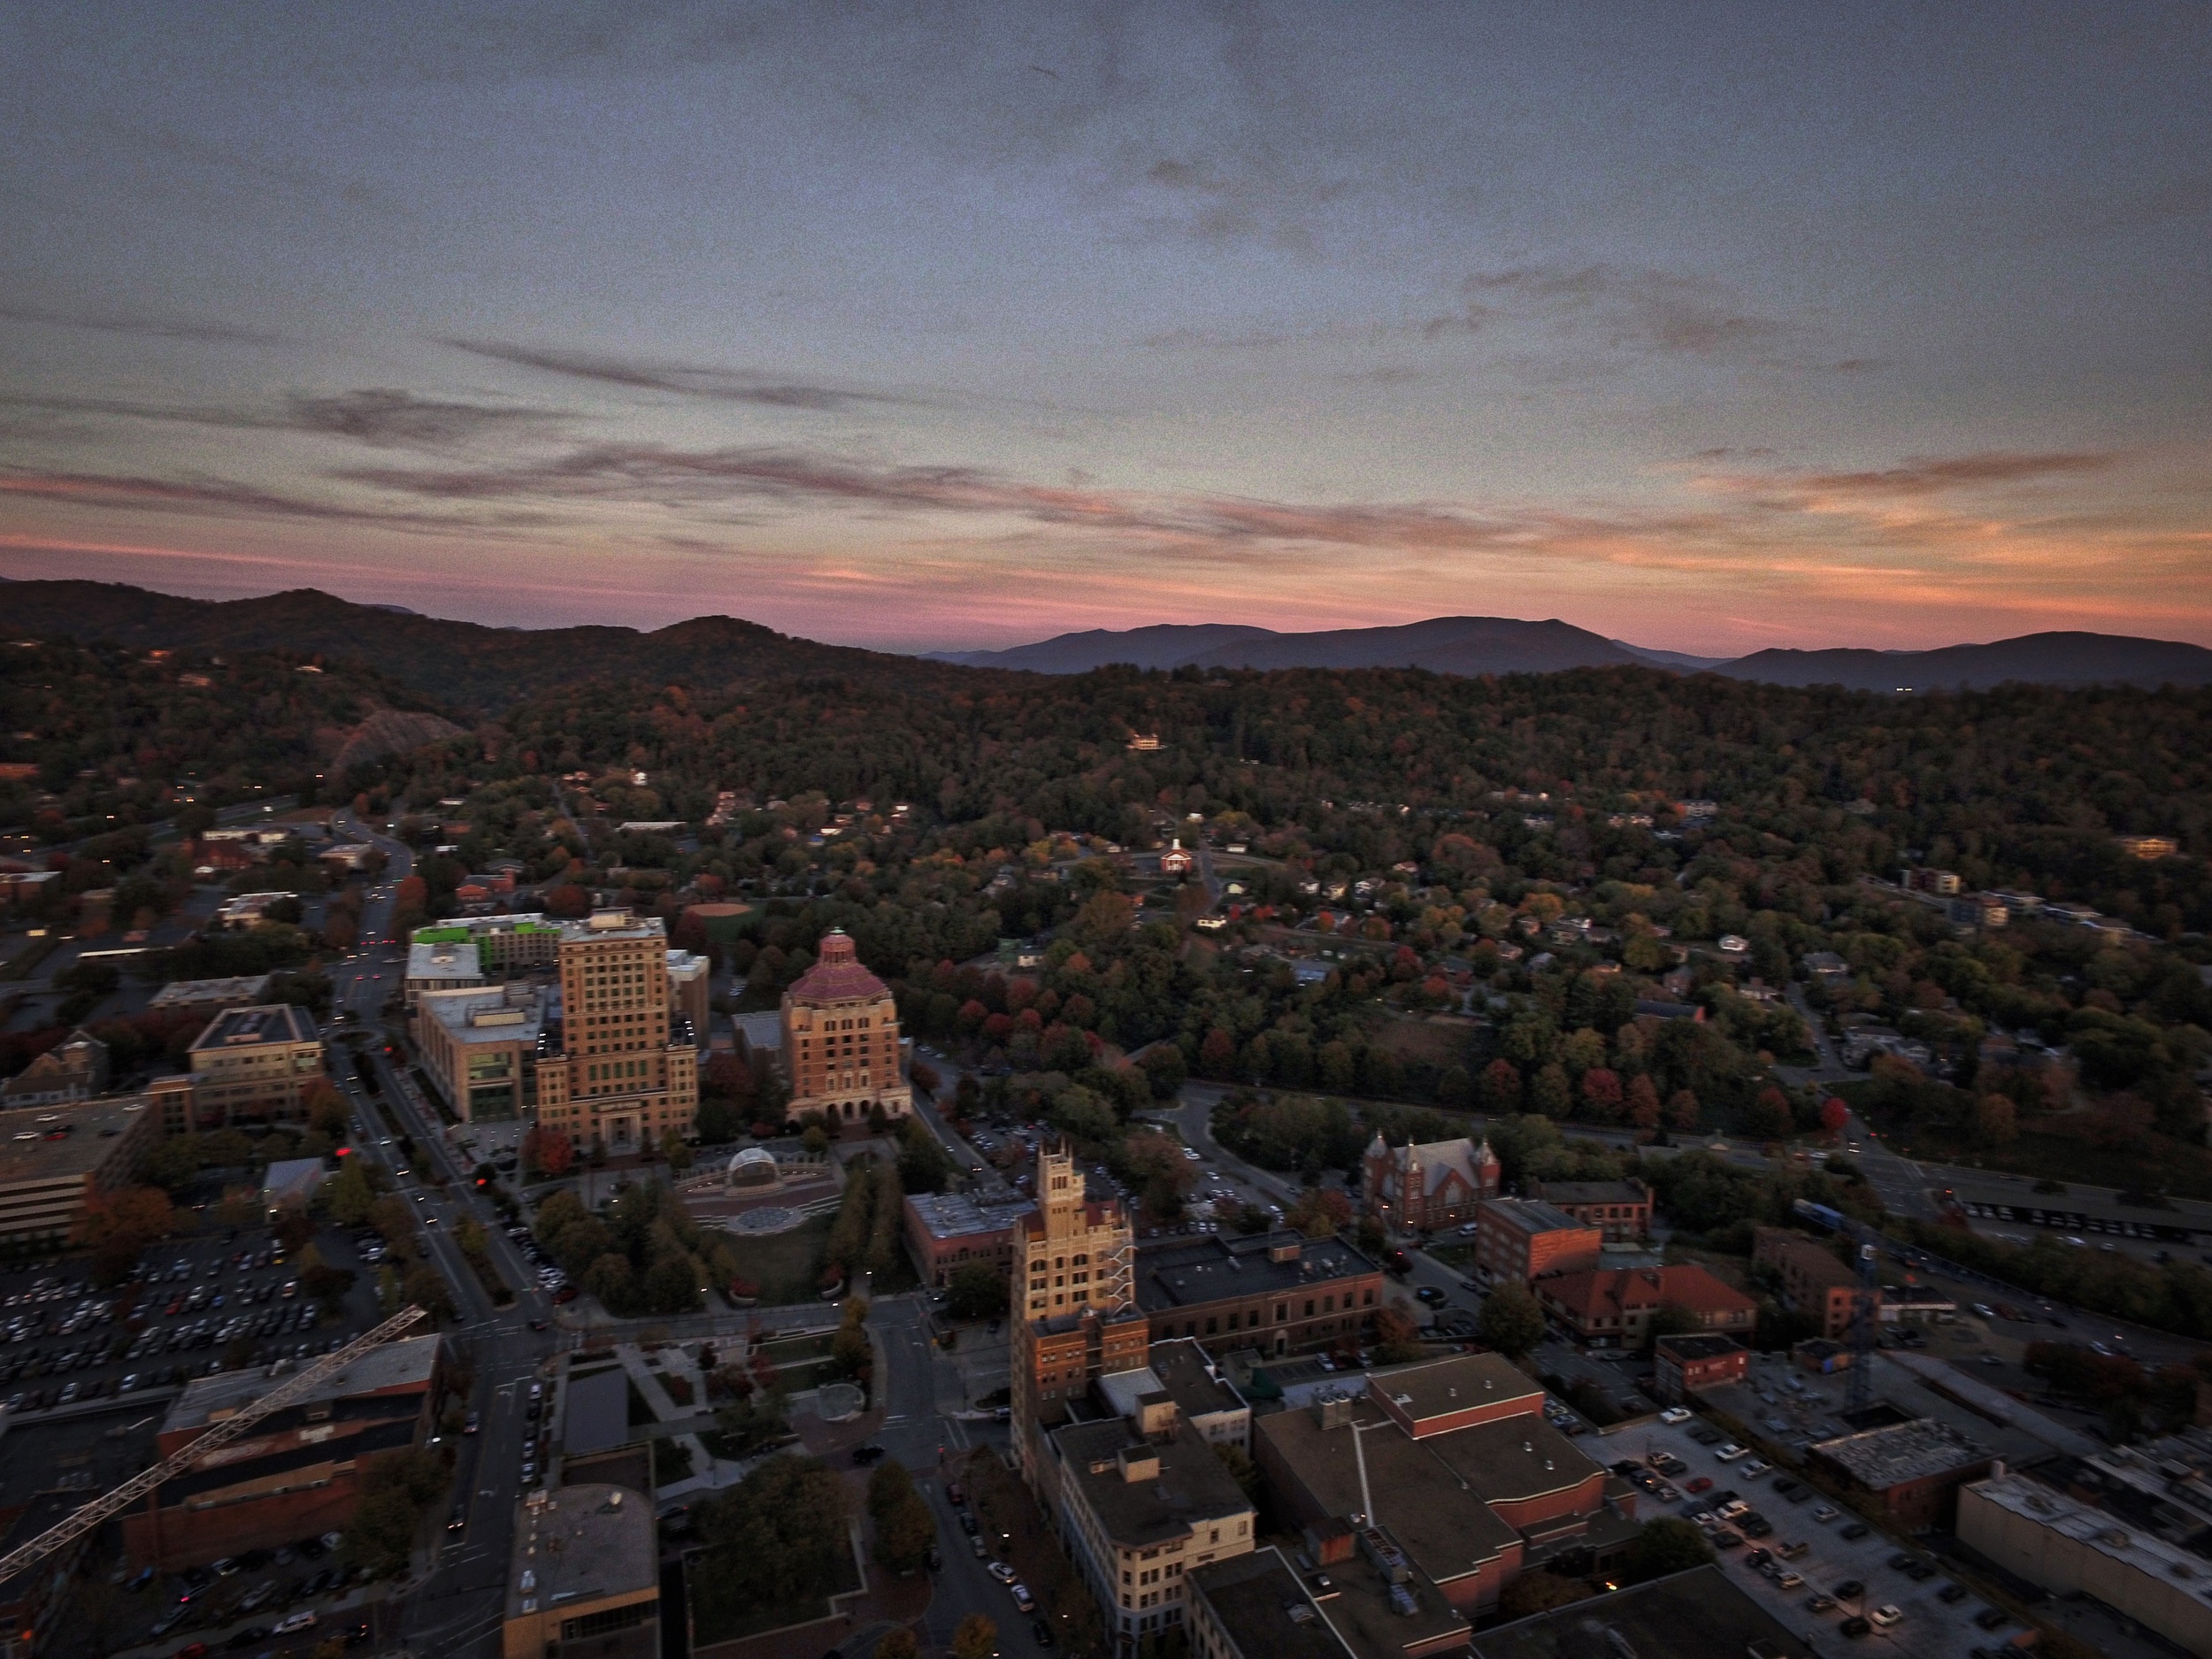
[[[2203,4],[0,9],[18,580],[2212,644],[2208,301]]]

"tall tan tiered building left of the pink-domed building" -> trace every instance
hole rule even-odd
[[[657,916],[599,911],[562,933],[562,1020],[538,1042],[538,1121],[577,1146],[635,1152],[692,1133],[699,1035],[670,1006]]]

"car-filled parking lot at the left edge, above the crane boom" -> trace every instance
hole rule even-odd
[[[325,1228],[314,1241],[334,1267],[358,1267],[354,1245]],[[195,1376],[234,1365],[301,1363],[367,1329],[376,1314],[361,1272],[338,1314],[299,1290],[261,1228],[210,1228],[146,1250],[137,1274],[97,1290],[84,1256],[0,1270],[0,1398],[20,1422],[77,1416],[126,1396],[166,1400]]]

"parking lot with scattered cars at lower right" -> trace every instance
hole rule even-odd
[[[1993,1610],[1927,1551],[1734,1449],[1701,1418],[1641,1422],[1582,1447],[1599,1462],[1644,1471],[1630,1475],[1646,1489],[1639,1513],[1697,1522],[1736,1584],[1785,1626],[1818,1639],[1823,1652],[1854,1641],[1856,1630],[1858,1641],[1916,1659],[1964,1659],[2020,1632],[2017,1619]],[[1896,1619],[1885,1624],[1885,1610]],[[1851,1619],[1867,1619],[1867,1628],[1845,1628]]]

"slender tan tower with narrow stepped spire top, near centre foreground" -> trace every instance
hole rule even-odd
[[[1037,1433],[1108,1371],[1144,1367],[1137,1241],[1119,1199],[1093,1199],[1066,1150],[1037,1150],[1037,1210],[1013,1234],[1013,1444],[1035,1482]],[[1040,1493],[1044,1498],[1044,1493]]]

